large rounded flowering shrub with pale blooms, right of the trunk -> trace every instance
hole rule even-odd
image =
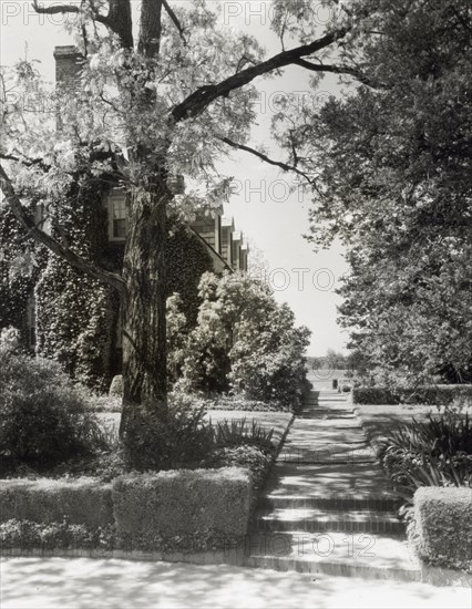
[[[304,352],[309,331],[278,304],[269,288],[250,277],[205,273],[199,285],[198,323],[183,359],[185,391],[233,391],[248,400],[300,402]]]

